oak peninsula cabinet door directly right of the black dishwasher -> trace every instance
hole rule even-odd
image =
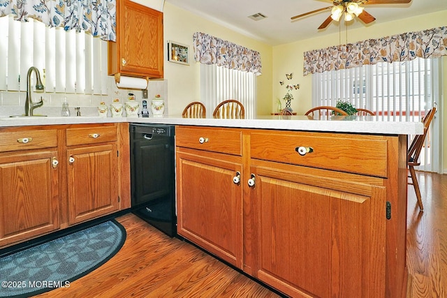
[[[242,268],[242,184],[233,182],[240,162],[177,148],[178,234]]]

